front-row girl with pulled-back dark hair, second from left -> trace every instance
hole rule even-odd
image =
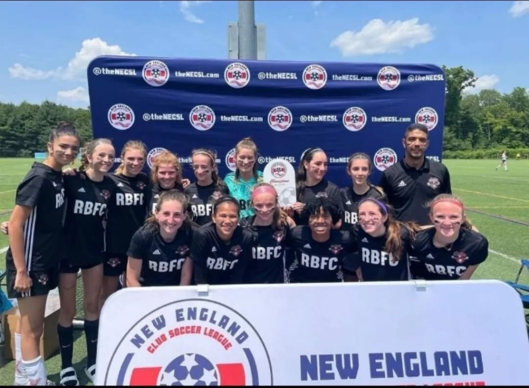
[[[213,205],[213,222],[196,230],[191,246],[196,284],[243,283],[253,236],[239,225],[239,210],[239,201],[224,195]]]

